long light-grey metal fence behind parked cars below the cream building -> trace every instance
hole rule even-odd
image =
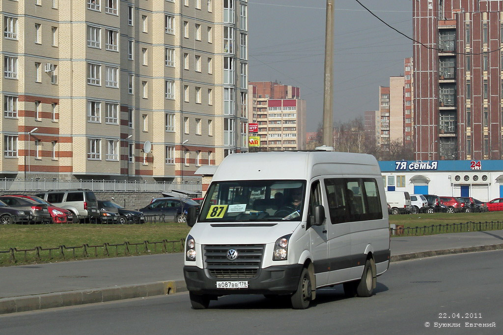
[[[0,179],[0,190],[3,191],[45,191],[64,189],[89,189],[92,191],[118,192],[166,192],[179,189],[201,193],[200,181],[175,182],[147,182],[147,181],[119,181],[119,180],[59,180],[59,179]]]

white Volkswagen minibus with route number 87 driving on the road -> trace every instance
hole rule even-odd
[[[227,156],[197,222],[189,213],[184,276],[192,306],[228,294],[290,295],[344,283],[369,297],[389,266],[389,221],[374,156],[303,151]],[[192,221],[192,222],[191,222]]]

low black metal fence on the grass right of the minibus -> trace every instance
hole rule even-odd
[[[483,231],[483,230],[499,230],[503,229],[503,221],[485,221],[485,222],[466,222],[466,223],[446,223],[432,224],[431,226],[423,227],[404,227],[403,225],[395,225],[390,227],[391,235],[400,236],[423,236],[453,232],[468,232],[468,231]]]

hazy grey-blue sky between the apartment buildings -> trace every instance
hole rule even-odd
[[[358,0],[412,37],[411,0]],[[379,86],[403,75],[412,41],[387,27],[356,0],[334,0],[333,121],[379,109]],[[300,88],[307,131],[323,116],[326,0],[248,0],[248,80]]]

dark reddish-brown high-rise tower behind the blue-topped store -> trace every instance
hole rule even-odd
[[[503,1],[412,8],[416,158],[503,158]]]

